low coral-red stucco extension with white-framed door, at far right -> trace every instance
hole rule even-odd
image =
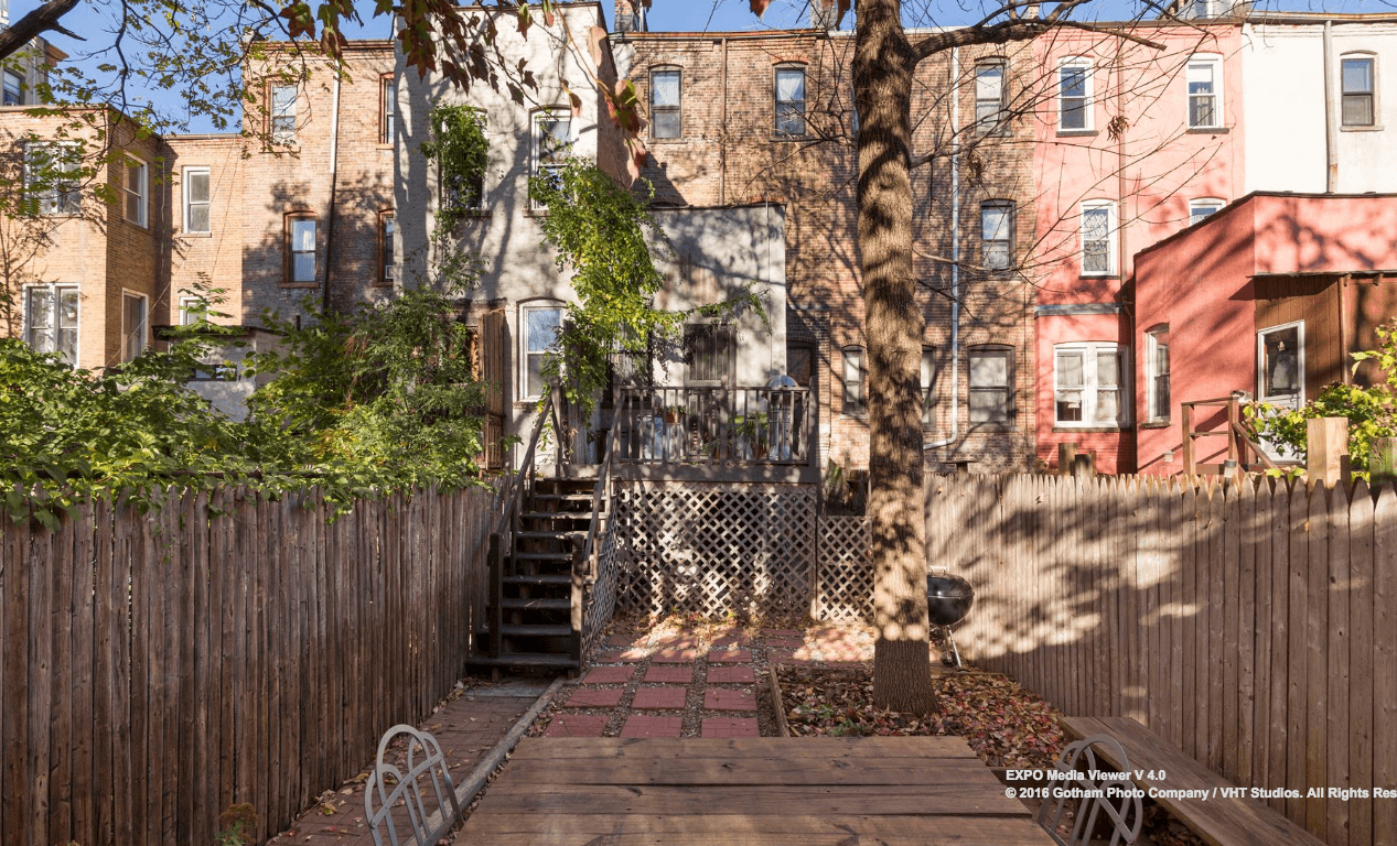
[[[1296,406],[1376,376],[1355,374],[1348,353],[1397,316],[1397,195],[1248,194],[1136,253],[1133,300],[1137,466],[1180,473],[1180,402],[1236,392]],[[1200,441],[1197,461],[1224,448]]]

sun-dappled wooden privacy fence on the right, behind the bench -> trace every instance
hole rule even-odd
[[[1133,716],[1331,846],[1397,843],[1397,496],[939,476],[957,635],[1069,715]],[[1309,796],[1309,789],[1319,796]],[[1348,801],[1330,790],[1362,789]]]

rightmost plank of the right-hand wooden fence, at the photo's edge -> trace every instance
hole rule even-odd
[[[1397,496],[1373,511],[1373,785],[1397,785]],[[1373,845],[1397,843],[1397,801],[1373,803]]]

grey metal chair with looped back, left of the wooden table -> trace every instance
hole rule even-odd
[[[398,737],[407,739],[404,751],[404,769],[386,761],[388,748]],[[416,843],[430,846],[437,843],[451,828],[461,821],[461,803],[455,799],[455,787],[451,785],[451,773],[446,766],[446,757],[436,739],[426,732],[418,732],[412,726],[398,725],[379,740],[379,755],[374,759],[373,772],[363,786],[363,815],[373,833],[374,846],[383,846],[383,831],[388,829],[387,843]],[[430,778],[434,804],[429,807],[423,780]],[[379,808],[374,810],[374,800]],[[408,831],[411,840],[398,839],[400,818],[394,818],[394,808],[407,808]]]

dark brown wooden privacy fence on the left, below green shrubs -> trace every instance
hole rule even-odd
[[[483,618],[492,496],[170,496],[0,530],[0,845],[257,842],[430,713]],[[212,515],[212,517],[210,517]]]

